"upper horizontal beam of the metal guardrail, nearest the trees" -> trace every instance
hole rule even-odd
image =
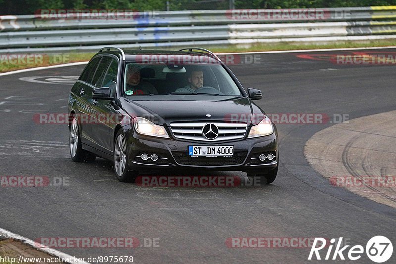
[[[351,8],[316,8],[311,11],[323,11],[327,21],[361,21],[396,18],[396,6],[351,7]],[[347,17],[343,14],[347,14]],[[111,17],[111,16],[110,16]],[[309,22],[310,19],[283,18],[250,19],[242,15],[233,19],[232,10],[195,10],[144,13],[137,12],[133,19],[88,19],[88,15],[80,15],[81,19],[42,19],[39,15],[0,16],[0,30],[44,30],[44,29],[81,29],[81,28],[115,28],[115,27],[148,27],[148,26],[182,26],[182,25],[219,25],[219,24],[251,24],[251,23],[285,23]],[[316,20],[316,22],[318,22]]]

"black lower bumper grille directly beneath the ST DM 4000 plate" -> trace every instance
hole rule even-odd
[[[190,157],[186,152],[172,152],[176,162],[190,166],[230,166],[244,162],[247,152],[234,153],[232,157]]]

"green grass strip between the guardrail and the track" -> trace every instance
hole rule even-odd
[[[303,49],[329,49],[329,48],[359,48],[359,47],[380,47],[380,46],[396,46],[395,40],[377,40],[377,41],[345,41],[327,44],[304,44],[304,43],[274,43],[274,44],[254,44],[248,47],[240,45],[230,45],[224,47],[205,46],[215,53],[231,53],[231,52],[260,52],[260,51],[286,51],[286,50],[303,50]],[[161,48],[176,50],[176,48]],[[0,72],[14,71],[26,68],[35,68],[41,66],[57,65],[70,62],[88,61],[95,53],[63,53],[60,54],[61,60],[55,61],[53,54],[44,55],[41,63],[7,63],[7,59],[0,56]],[[59,54],[57,54],[59,58]]]

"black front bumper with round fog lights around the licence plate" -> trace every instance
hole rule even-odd
[[[140,172],[148,169],[172,169],[184,171],[244,171],[247,173],[266,173],[278,165],[278,139],[276,130],[264,137],[225,142],[194,142],[172,138],[154,138],[137,134],[132,129],[126,131],[128,142],[128,164]],[[190,157],[189,146],[234,146],[232,157]],[[143,160],[140,156],[146,153],[150,157],[158,155],[157,161]],[[273,160],[260,161],[261,154],[272,153]]]

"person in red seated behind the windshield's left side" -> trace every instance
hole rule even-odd
[[[140,77],[140,69],[136,66],[128,67],[126,73],[126,87],[125,93],[127,95],[149,95],[157,94],[155,87],[143,80]]]

